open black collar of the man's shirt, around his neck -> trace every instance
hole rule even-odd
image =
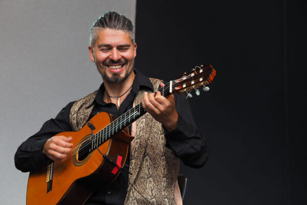
[[[141,73],[139,70],[135,69],[133,70],[136,74],[135,79],[132,84],[132,89],[130,92],[137,93],[141,88],[148,88],[153,92],[153,86],[149,80],[148,77],[146,77],[143,73]],[[105,101],[103,101],[103,93],[104,93],[104,84],[102,83],[98,89],[97,95],[93,101],[93,103],[89,106],[91,107],[94,103],[98,103],[102,106],[106,105]]]

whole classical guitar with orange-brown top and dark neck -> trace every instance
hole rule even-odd
[[[198,88],[207,91],[206,85],[214,76],[211,65],[197,66],[190,73],[169,81],[159,91],[163,96],[172,93],[190,96],[192,90],[199,94]],[[145,112],[142,104],[116,119],[101,112],[81,130],[57,134],[72,136],[74,147],[64,160],[30,172],[27,204],[83,204],[95,190],[112,183],[124,166],[134,138],[126,134],[127,127]]]

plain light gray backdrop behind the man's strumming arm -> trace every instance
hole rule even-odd
[[[136,0],[0,1],[0,198],[25,204],[28,173],[14,166],[17,147],[70,101],[101,84],[87,46],[104,11],[135,22]]]

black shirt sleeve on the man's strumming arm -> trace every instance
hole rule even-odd
[[[22,172],[31,172],[48,164],[48,158],[42,154],[45,142],[60,132],[72,131],[69,115],[74,102],[64,107],[53,119],[46,121],[41,129],[24,141],[17,149],[15,167]]]

